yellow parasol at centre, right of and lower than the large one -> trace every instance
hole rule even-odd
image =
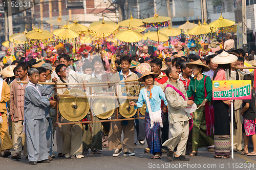
[[[138,42],[143,38],[143,36],[138,31],[133,31],[129,28],[126,31],[117,32],[116,38],[123,42]]]

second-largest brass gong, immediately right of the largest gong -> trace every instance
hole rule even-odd
[[[108,119],[115,111],[116,104],[113,99],[98,98],[93,102],[93,113],[100,119]]]

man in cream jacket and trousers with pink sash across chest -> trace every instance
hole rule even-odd
[[[163,146],[169,148],[167,151],[167,159],[170,161],[172,159],[174,161],[186,161],[189,159],[186,159],[183,155],[185,155],[186,152],[186,144],[189,133],[188,120],[192,117],[189,113],[184,111],[184,108],[187,107],[188,104],[193,104],[194,101],[188,100],[184,84],[182,81],[178,80],[179,73],[176,68],[169,67],[166,70],[166,75],[169,78],[168,85],[166,86],[164,92],[169,106],[169,139],[163,143]],[[177,152],[173,158],[174,148],[176,146]]]

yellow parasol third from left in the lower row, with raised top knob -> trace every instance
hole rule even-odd
[[[62,28],[53,30],[53,34],[59,37],[59,39],[72,39],[72,38],[77,38],[79,36],[79,33],[69,29],[68,25],[65,25]]]

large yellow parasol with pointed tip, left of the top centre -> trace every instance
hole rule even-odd
[[[110,20],[99,20],[90,24],[89,28],[98,34],[111,34],[118,29],[118,25]]]

